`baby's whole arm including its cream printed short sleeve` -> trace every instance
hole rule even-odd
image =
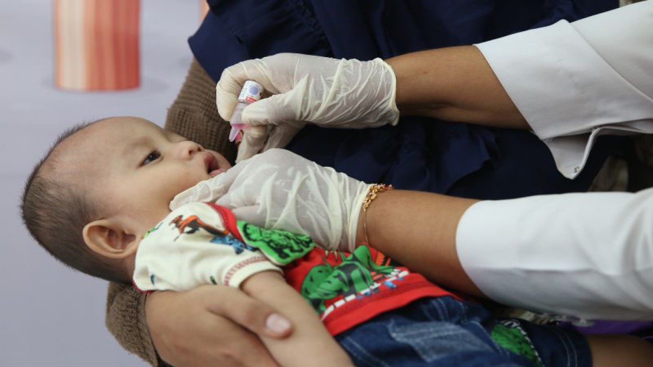
[[[293,257],[279,255],[272,248],[274,241],[261,241],[258,249],[241,242],[228,234],[227,227],[240,233],[233,214],[224,208],[199,202],[177,208],[140,242],[134,284],[142,291],[184,291],[207,283],[241,289],[293,324],[293,334],[282,341],[263,338],[281,366],[352,366],[319,315],[285,282],[264,252],[277,255],[272,259],[278,264]],[[310,247],[296,250],[294,255],[301,257]]]

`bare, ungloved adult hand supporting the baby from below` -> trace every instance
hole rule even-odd
[[[158,291],[146,300],[152,342],[161,359],[176,367],[278,367],[257,334],[288,336],[290,323],[279,317],[262,302],[222,285]]]

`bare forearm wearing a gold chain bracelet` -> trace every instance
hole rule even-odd
[[[365,241],[367,227],[370,246],[439,285],[482,296],[456,253],[458,222],[474,202],[417,191],[380,193],[358,217],[357,243]]]

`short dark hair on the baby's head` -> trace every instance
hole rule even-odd
[[[57,178],[49,167],[53,152],[61,142],[95,122],[82,123],[65,131],[34,167],[25,183],[22,217],[31,236],[57,260],[91,276],[129,282],[116,264],[95,253],[84,242],[82,231],[88,223],[99,219],[99,204],[90,199],[88,190],[72,187]]]

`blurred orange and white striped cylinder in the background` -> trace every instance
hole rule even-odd
[[[112,91],[140,85],[140,0],[55,0],[55,85]]]

